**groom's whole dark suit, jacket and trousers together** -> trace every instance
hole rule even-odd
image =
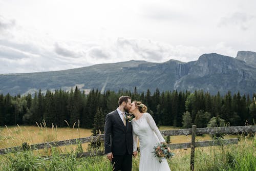
[[[106,115],[104,127],[105,154],[111,153],[115,170],[132,170],[133,135],[132,124],[124,126],[117,110]]]

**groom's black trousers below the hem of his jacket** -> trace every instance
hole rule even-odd
[[[111,161],[111,164],[114,166],[114,171],[122,170],[122,171],[131,171],[132,170],[132,157],[133,155],[129,155],[127,152],[125,155],[119,156],[114,155],[114,158]]]

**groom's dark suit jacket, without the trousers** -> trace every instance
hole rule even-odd
[[[133,153],[132,123],[126,120],[124,126],[117,110],[106,115],[104,126],[105,154],[124,155]]]

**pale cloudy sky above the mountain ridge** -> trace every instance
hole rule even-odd
[[[0,0],[0,74],[256,52],[256,1]]]

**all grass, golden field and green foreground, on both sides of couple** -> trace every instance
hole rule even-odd
[[[160,130],[179,129],[161,126]],[[88,137],[91,130],[72,128],[46,128],[41,126],[0,127],[0,148],[46,141],[58,141]],[[237,135],[226,136],[236,138]],[[189,142],[190,136],[171,136],[172,143]],[[209,140],[209,135],[197,136],[197,141]],[[195,170],[256,170],[255,137],[239,136],[239,144],[196,148]],[[112,170],[104,156],[76,158],[77,145],[49,150],[18,152],[0,155],[0,170]],[[87,144],[83,144],[86,151]],[[189,170],[190,148],[173,151],[175,156],[168,160],[172,170]],[[69,156],[61,156],[68,153]],[[133,170],[138,170],[139,157],[133,159]]]

